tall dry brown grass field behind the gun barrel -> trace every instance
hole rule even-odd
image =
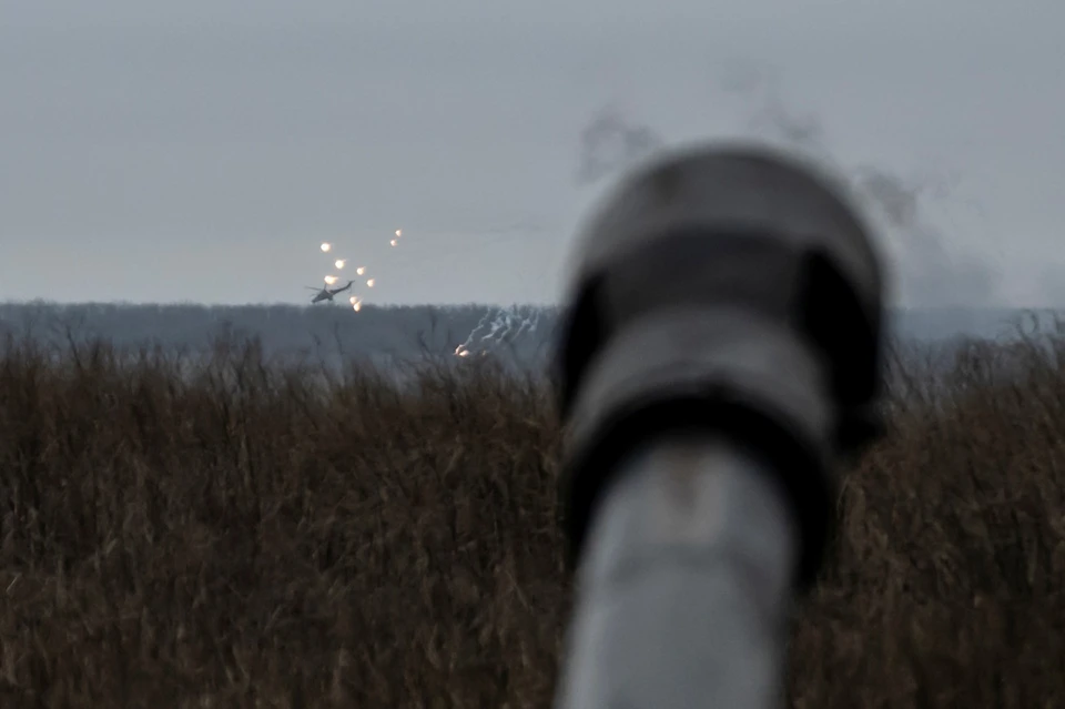
[[[792,705],[1065,706],[1065,341],[913,362],[797,610]],[[183,366],[0,353],[0,706],[549,707],[542,385]]]

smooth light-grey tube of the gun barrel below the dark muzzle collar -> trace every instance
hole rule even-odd
[[[619,464],[579,570],[557,709],[782,705],[799,535],[771,465],[704,431]]]

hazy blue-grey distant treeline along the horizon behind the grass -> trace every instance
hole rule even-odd
[[[1027,318],[1027,321],[1025,321]],[[271,355],[326,358],[409,359],[453,355],[463,344],[471,354],[500,348],[524,359],[546,354],[558,323],[557,308],[486,305],[376,307],[358,313],[335,305],[142,305],[0,303],[0,335],[30,336],[65,344],[108,340],[119,347],[160,345],[197,351],[223,335],[258,337]],[[1022,323],[1043,332],[1054,327],[1051,311],[910,310],[891,315],[889,332],[905,341],[996,337]],[[473,337],[471,337],[473,335]]]

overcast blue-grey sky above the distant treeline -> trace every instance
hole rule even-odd
[[[929,188],[884,216],[910,297],[1065,305],[1063,27],[1051,0],[0,0],[0,300],[298,302],[344,273],[329,241],[368,301],[552,301],[612,108],[667,145],[816,128],[873,196]]]

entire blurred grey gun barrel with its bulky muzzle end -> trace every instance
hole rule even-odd
[[[775,706],[836,470],[880,428],[869,229],[813,165],[711,144],[625,180],[570,264],[558,706]]]

